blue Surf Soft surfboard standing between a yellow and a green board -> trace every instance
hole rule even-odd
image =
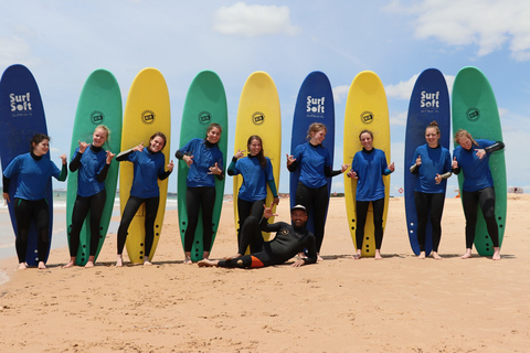
[[[425,128],[433,120],[438,122],[442,132],[439,145],[449,149],[451,109],[447,84],[444,75],[438,69],[427,68],[417,77],[412,90],[409,116],[406,118],[405,160],[403,162],[406,228],[412,250],[416,255],[420,255],[416,234],[417,214],[414,203],[416,175],[411,173],[410,167],[414,163],[413,158],[416,148],[426,143]],[[425,255],[428,256],[432,250],[433,239],[430,221],[425,234]]]

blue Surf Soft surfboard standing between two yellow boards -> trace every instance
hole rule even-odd
[[[307,142],[307,130],[312,122],[321,122],[328,129],[322,146],[329,150],[331,160],[335,151],[335,104],[333,92],[326,74],[315,71],[307,75],[300,86],[296,99],[295,115],[293,118],[293,138],[290,140],[290,154],[297,146]],[[296,203],[296,188],[300,176],[300,169],[290,173],[290,206]],[[328,194],[331,192],[331,178],[327,178]],[[307,222],[309,232],[315,231],[312,212]]]

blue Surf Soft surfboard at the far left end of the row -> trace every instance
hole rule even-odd
[[[41,94],[35,78],[23,65],[9,66],[0,82],[0,157],[2,170],[19,154],[30,152],[30,141],[35,133],[46,133],[46,119],[42,105]],[[50,152],[43,158],[50,159]],[[9,184],[8,204],[13,232],[17,234],[17,222],[14,218],[13,202],[17,189],[17,178],[12,178]],[[46,199],[50,208],[50,245],[52,244],[53,225],[53,195],[52,183],[46,191]],[[50,248],[49,248],[50,252]],[[36,253],[36,228],[32,223],[28,238],[28,253],[25,261],[30,266],[39,264]],[[46,258],[42,259],[44,261]]]

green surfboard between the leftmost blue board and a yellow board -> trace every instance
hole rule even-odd
[[[105,150],[118,153],[121,143],[121,94],[119,85],[114,75],[103,68],[94,71],[86,79],[81,92],[77,111],[75,114],[74,130],[72,132],[72,145],[70,158],[74,156],[78,141],[92,143],[92,135],[98,125],[105,125],[110,130],[107,142],[103,146]],[[102,249],[107,234],[110,217],[113,215],[114,201],[116,197],[116,184],[118,181],[119,163],[113,160],[105,179],[107,199],[103,210],[99,224],[99,243],[96,252],[96,259]],[[70,234],[72,231],[72,212],[77,196],[77,172],[68,173],[66,193],[66,225]],[[84,266],[89,256],[91,244],[91,213],[85,218],[80,236],[80,249],[75,259],[76,265]]]

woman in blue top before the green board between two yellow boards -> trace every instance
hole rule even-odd
[[[203,258],[210,256],[213,237],[213,207],[215,203],[215,179],[224,179],[223,153],[218,147],[223,129],[212,122],[206,129],[204,139],[194,138],[181,147],[176,153],[190,168],[186,180],[186,206],[188,226],[184,232],[184,264],[190,265],[191,248],[195,236],[199,212],[202,210],[202,229],[204,247]]]

